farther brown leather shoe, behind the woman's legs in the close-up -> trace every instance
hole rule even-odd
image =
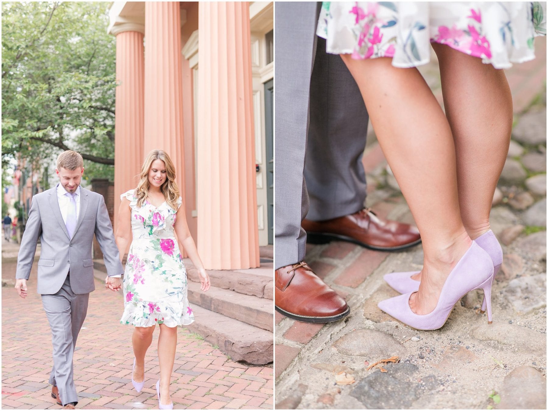
[[[367,208],[326,221],[304,219],[301,226],[306,231],[307,242],[312,244],[342,240],[372,250],[399,251],[420,243],[416,227],[381,219]]]

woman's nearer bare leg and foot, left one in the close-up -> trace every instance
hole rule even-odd
[[[387,161],[423,240],[424,268],[409,305],[436,308],[445,280],[471,245],[460,217],[455,145],[446,116],[415,68],[341,55],[355,78]]]

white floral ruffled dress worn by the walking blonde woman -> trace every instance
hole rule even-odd
[[[189,325],[186,270],[175,240],[176,210],[167,202],[137,206],[135,190],[120,196],[132,209],[133,241],[124,272],[124,314],[120,322],[138,327]],[[179,197],[177,208],[182,204]]]

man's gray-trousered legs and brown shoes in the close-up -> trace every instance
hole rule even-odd
[[[275,304],[284,316],[315,323],[344,318],[350,308],[304,261],[307,235],[382,251],[420,242],[415,227],[364,208],[367,110],[343,60],[316,36],[320,8],[276,2],[275,19]]]

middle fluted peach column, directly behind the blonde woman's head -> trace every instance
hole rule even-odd
[[[164,150],[185,201],[182,144],[181,14],[179,2],[145,3],[144,154]]]

